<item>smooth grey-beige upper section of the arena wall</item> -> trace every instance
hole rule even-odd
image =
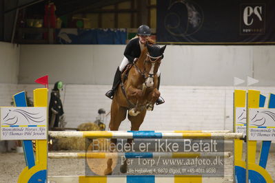
[[[110,85],[125,45],[21,45],[19,83],[48,74],[50,83]],[[274,86],[274,45],[167,45],[162,85],[232,86],[234,76]],[[30,72],[30,68],[32,72]]]

